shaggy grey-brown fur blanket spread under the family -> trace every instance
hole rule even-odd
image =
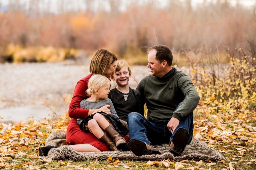
[[[222,156],[217,150],[208,148],[205,142],[194,138],[192,139],[191,143],[186,146],[184,152],[182,152],[180,156],[173,156],[173,154],[168,152],[169,145],[167,144],[154,145],[154,148],[162,153],[161,155],[136,156],[131,151],[77,152],[73,150],[70,146],[61,146],[64,140],[66,140],[66,132],[53,132],[49,135],[45,142],[45,145],[60,146],[58,148],[53,148],[49,151],[48,156],[51,159],[70,159],[77,161],[84,159],[104,160],[112,156],[112,158],[118,159],[152,161],[160,161],[167,158],[175,161],[180,161],[183,159],[211,161],[225,160],[224,156]]]

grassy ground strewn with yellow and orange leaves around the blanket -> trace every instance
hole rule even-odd
[[[68,115],[58,121],[30,120],[28,123],[0,124],[1,169],[255,169],[256,168],[256,117],[240,114],[229,124],[214,115],[212,121],[195,115],[194,136],[221,152],[226,160],[211,162],[183,160],[130,161],[115,160],[51,160],[38,156],[37,148],[43,146],[53,131],[64,131]],[[249,121],[248,121],[249,120]]]

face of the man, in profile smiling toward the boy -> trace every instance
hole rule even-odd
[[[159,63],[156,60],[156,50],[152,49],[149,53],[148,53],[148,68],[150,68],[151,71],[151,75],[152,76],[160,76],[162,73],[162,65],[161,63]]]

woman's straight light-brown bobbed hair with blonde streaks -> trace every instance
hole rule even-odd
[[[99,49],[93,55],[90,63],[90,73],[106,76],[110,65],[116,61],[116,56],[106,49]]]

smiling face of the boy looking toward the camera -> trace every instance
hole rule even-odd
[[[129,74],[128,67],[123,67],[121,70],[114,73],[114,79],[117,86],[129,86],[129,79],[131,75]]]

